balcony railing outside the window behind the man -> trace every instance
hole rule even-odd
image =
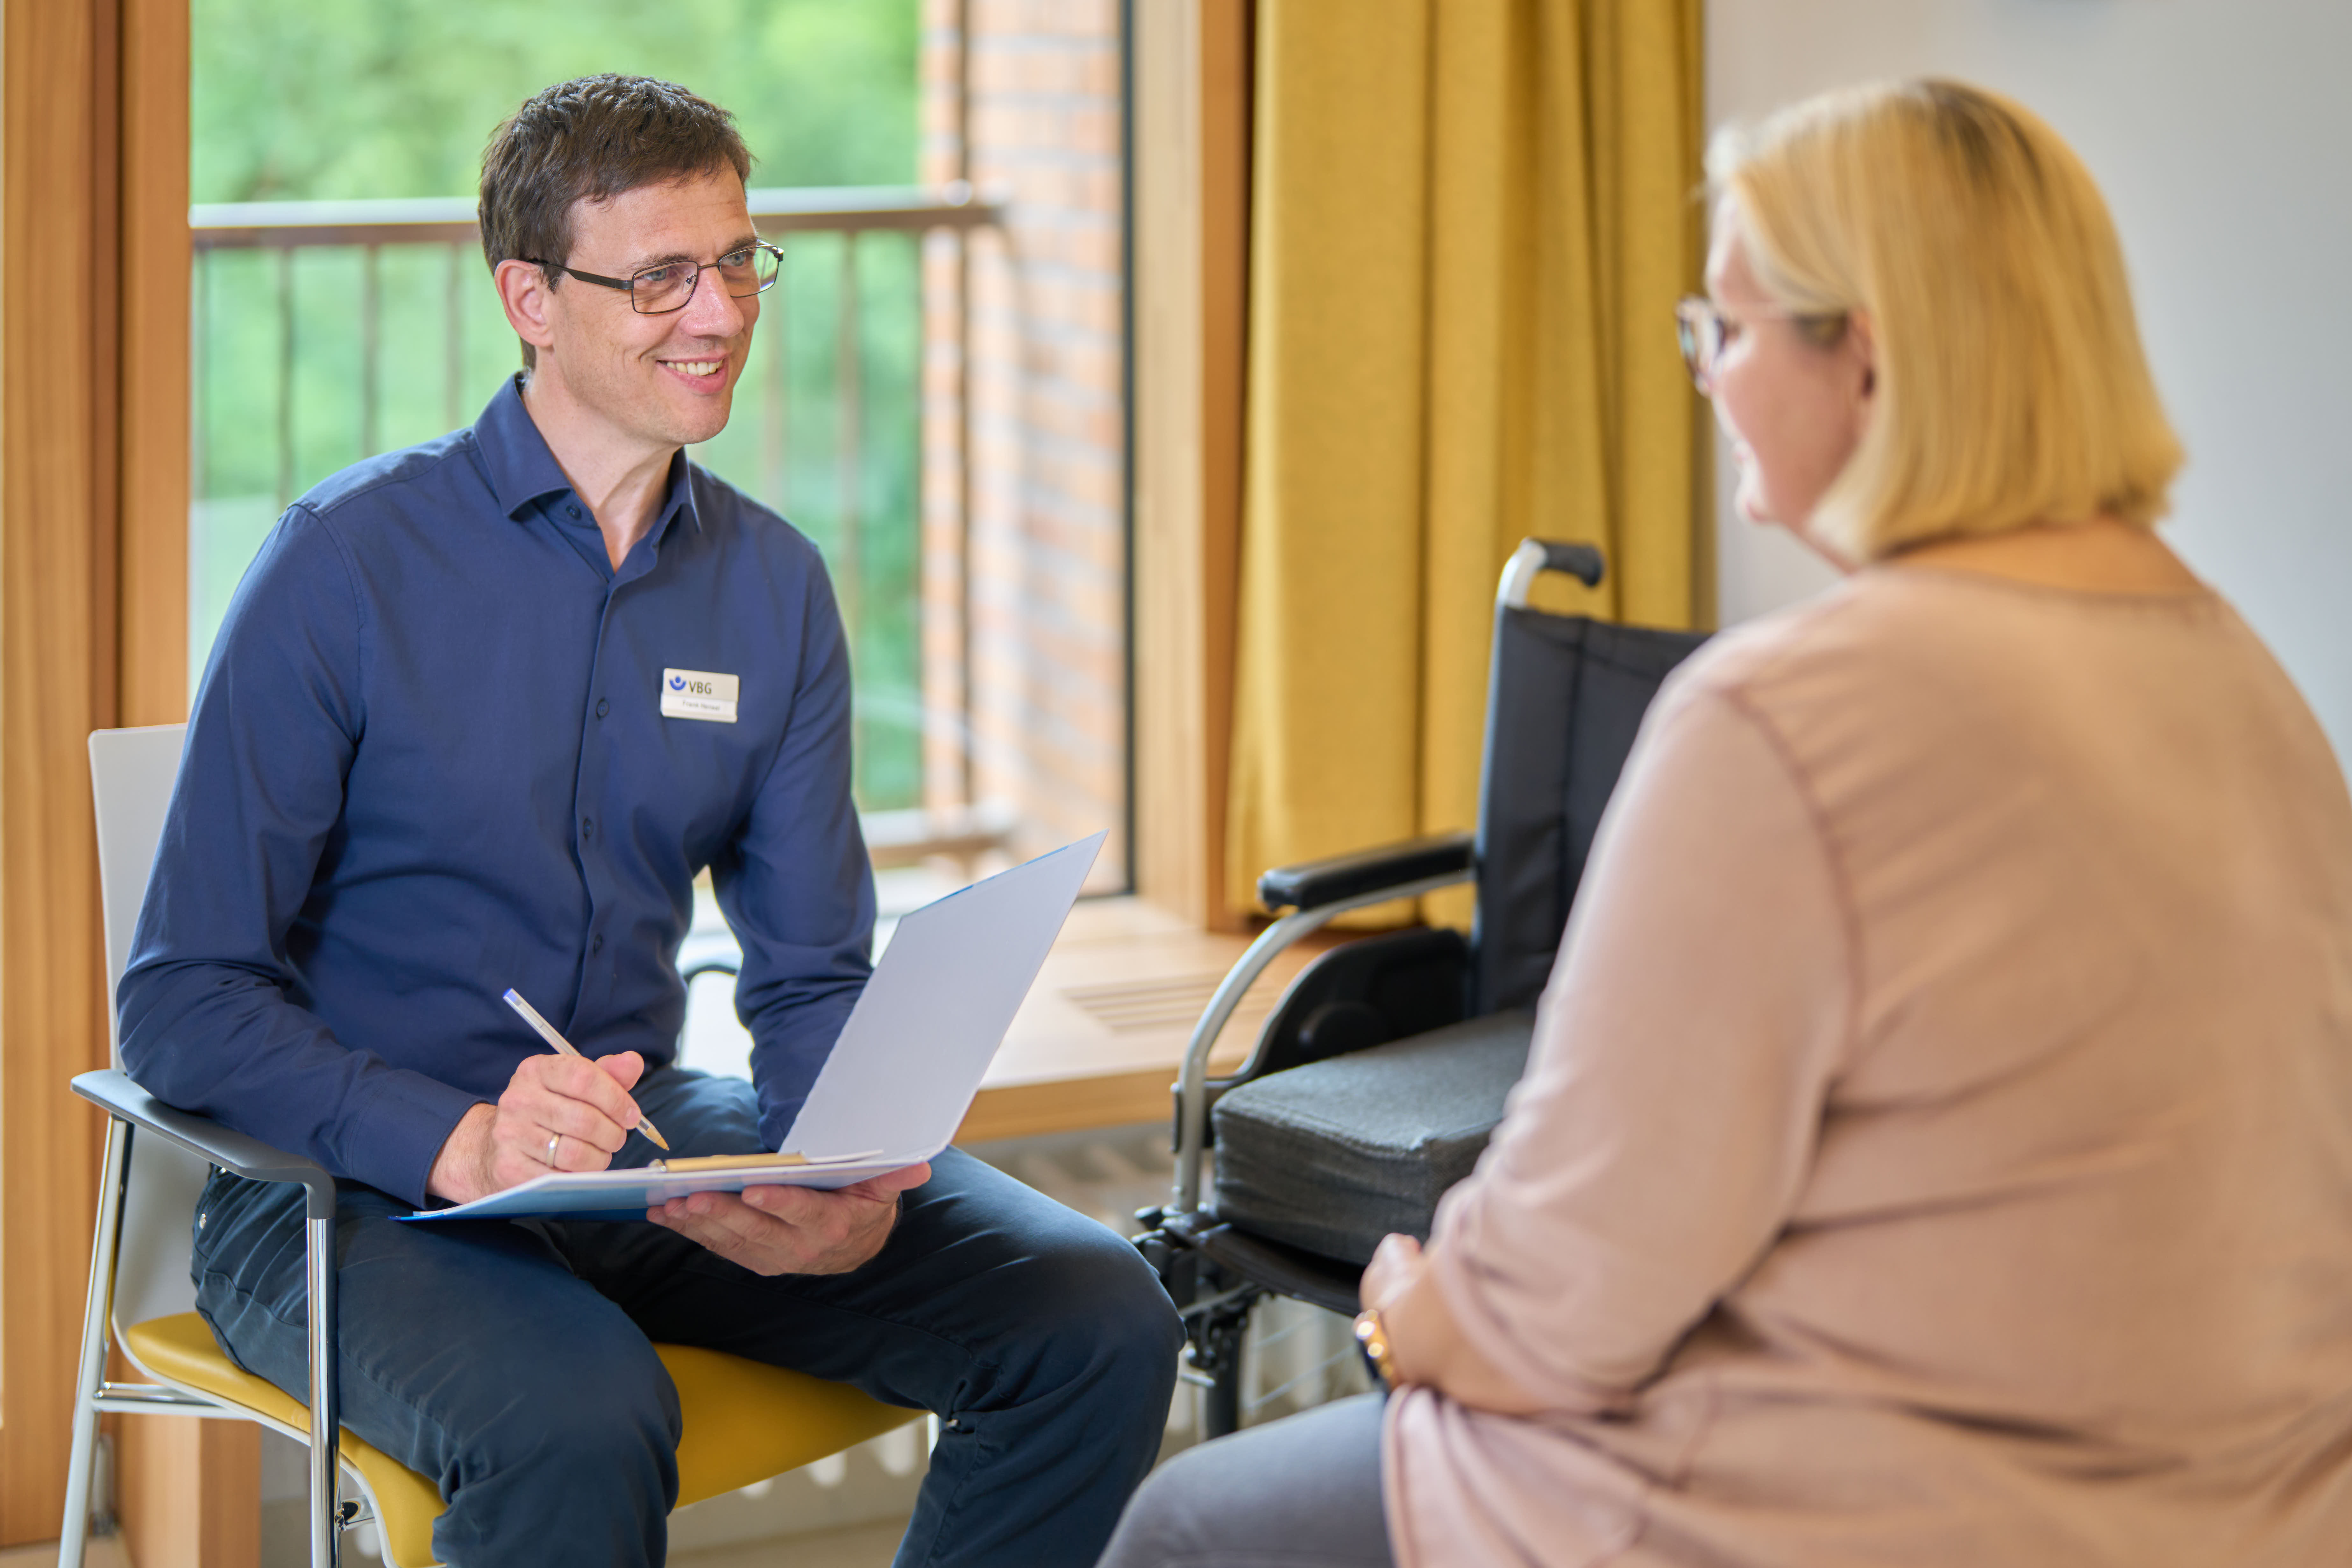
[[[953,395],[964,494],[964,247],[1002,214],[950,186],[750,190],[750,216],[783,247],[783,275],[762,299],[729,428],[694,456],[823,548],[858,679],[858,799],[889,813],[891,851],[920,856],[938,837],[969,856],[976,823],[995,832],[969,795],[936,835],[908,816],[927,799],[924,729],[969,736],[969,677],[962,712],[922,701],[922,425],[924,400],[936,421]],[[191,207],[188,226],[200,668],[235,578],[294,496],[362,456],[473,421],[520,355],[470,200],[209,205]],[[927,235],[955,247],[946,294],[924,287]],[[955,320],[927,320],[936,308]],[[955,343],[955,374],[927,386],[924,353],[941,339]],[[941,799],[936,780],[929,799]]]

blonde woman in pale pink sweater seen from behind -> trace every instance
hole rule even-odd
[[[1710,176],[1691,371],[1849,576],[1651,712],[1510,1114],[1364,1276],[1385,1413],[1105,1561],[2352,1561],[2352,804],[2152,531],[2098,190],[1933,80]]]

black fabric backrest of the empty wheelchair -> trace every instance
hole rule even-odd
[[[1477,818],[1477,1016],[1534,1006],[1642,715],[1705,632],[1496,607]]]

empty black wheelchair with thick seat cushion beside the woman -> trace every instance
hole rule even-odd
[[[1258,879],[1284,910],[1223,978],[1176,1081],[1176,1190],[1136,1246],[1185,1321],[1204,1436],[1242,1425],[1242,1338],[1284,1295],[1338,1314],[1381,1237],[1428,1239],[1437,1199],[1477,1164],[1526,1072],[1536,999],[1585,856],[1658,686],[1703,632],[1531,609],[1543,571],[1602,581],[1592,545],[1529,538],[1496,592],[1477,832],[1367,849]],[[1251,980],[1338,914],[1475,884],[1451,929],[1324,952],[1275,1004],[1249,1060],[1209,1053]]]

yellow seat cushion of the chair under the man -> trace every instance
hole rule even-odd
[[[122,1347],[165,1382],[214,1394],[296,1432],[310,1429],[310,1408],[223,1356],[195,1312],[134,1324],[122,1331]],[[670,1371],[684,1410],[677,1507],[781,1476],[922,1415],[868,1399],[842,1382],[717,1349],[656,1345],[654,1352]],[[386,1561],[393,1568],[428,1568],[433,1521],[442,1514],[440,1486],[348,1429],[341,1455],[376,1500]]]

